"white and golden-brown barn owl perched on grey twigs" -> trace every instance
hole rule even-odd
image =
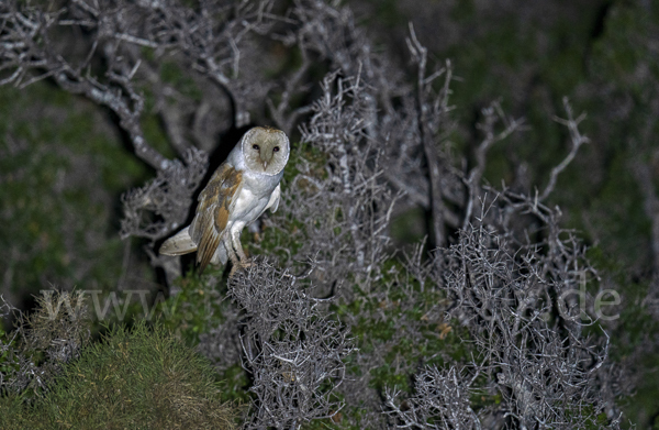
[[[241,232],[266,209],[275,212],[279,206],[279,181],[289,153],[289,140],[281,130],[256,126],[247,131],[199,195],[192,223],[165,241],[160,254],[197,251],[200,272],[209,263],[226,264],[228,257],[233,275],[247,263]]]

